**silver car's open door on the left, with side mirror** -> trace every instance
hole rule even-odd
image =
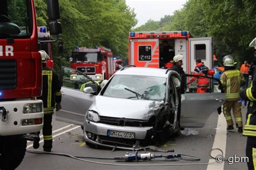
[[[82,72],[64,66],[59,79],[62,85],[60,90],[62,92],[62,109],[56,112],[56,120],[83,126],[84,115],[96,96],[84,93],[80,87],[84,83],[91,82],[91,85],[95,87],[93,89],[98,93],[98,85]]]

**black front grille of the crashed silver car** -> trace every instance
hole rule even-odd
[[[134,126],[134,127],[144,127],[148,126],[147,121],[137,120],[137,119],[125,119],[125,118],[114,118],[114,117],[105,117],[100,116],[99,123],[116,125],[116,126]]]

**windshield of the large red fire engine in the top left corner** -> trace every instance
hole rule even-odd
[[[0,38],[29,38],[32,25],[31,1],[0,1]]]

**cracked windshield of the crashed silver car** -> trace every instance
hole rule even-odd
[[[165,100],[165,93],[166,78],[115,75],[106,87],[103,96],[123,99]]]

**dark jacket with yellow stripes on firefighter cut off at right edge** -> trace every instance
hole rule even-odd
[[[256,82],[253,86],[241,91],[241,98],[249,101],[247,106],[246,124],[243,135],[256,137]],[[255,139],[256,140],[256,139]]]

